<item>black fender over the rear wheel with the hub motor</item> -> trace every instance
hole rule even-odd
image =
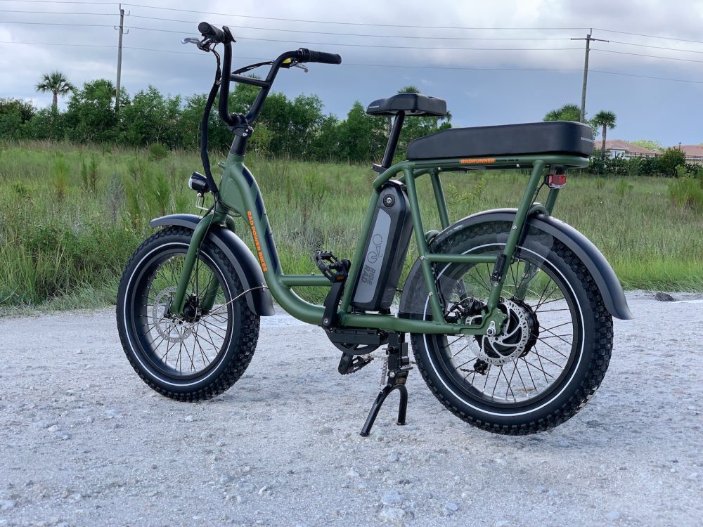
[[[456,233],[458,230],[477,225],[478,223],[491,221],[509,221],[512,223],[516,213],[517,209],[493,209],[467,216],[453,223],[435,236],[430,244],[430,252],[432,252],[432,247],[437,247],[439,243],[446,240],[446,238]],[[622,286],[615,272],[610,266],[610,263],[605,259],[605,256],[598,250],[598,247],[593,245],[591,240],[588,240],[586,236],[579,233],[578,230],[569,226],[567,223],[555,219],[552,216],[546,216],[546,214],[534,214],[530,216],[529,219],[527,219],[527,224],[559,240],[583,261],[588,272],[593,276],[595,284],[598,285],[598,290],[603,297],[605,307],[611,315],[621,320],[633,318],[630,308],[627,305]],[[424,278],[420,270],[419,260],[413,265],[413,268],[408,274],[405,287],[403,288],[398,313],[400,317],[413,318],[413,310],[409,306],[411,304],[410,297],[412,296],[413,290],[416,289],[414,285],[417,280],[420,281],[420,284],[423,284],[424,288]]]

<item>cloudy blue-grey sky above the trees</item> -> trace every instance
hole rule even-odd
[[[207,91],[212,57],[180,44],[207,20],[231,27],[236,65],[299,47],[340,53],[342,65],[283,71],[274,87],[317,93],[340,117],[413,84],[446,99],[455,126],[531,122],[580,105],[584,42],[571,39],[593,27],[609,42],[591,44],[587,116],[612,110],[611,138],[703,142],[702,0],[145,1],[122,4],[129,93]],[[0,97],[49,105],[34,85],[51,70],[114,81],[118,13],[101,1],[0,0]]]

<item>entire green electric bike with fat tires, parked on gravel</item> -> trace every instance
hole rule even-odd
[[[588,165],[591,129],[576,122],[456,128],[418,138],[407,159],[392,164],[406,117],[444,116],[444,100],[416,93],[377,100],[372,115],[394,116],[382,164],[351,261],[316,251],[318,275],[283,272],[257,181],[244,164],[247,141],[281,68],[340,64],[338,55],[299,49],[231,72],[227,27],[202,22],[202,39],[185,39],[217,57],[217,74],[202,117],[205,175],[189,186],[211,195],[202,216],[153,220],[161,229],[124,269],[117,325],[127,357],[153,389],[180,401],[211,398],[237,382],[252,360],[259,317],[273,315],[271,297],[290,315],[319,325],[342,351],[339,372],[356,372],[387,346],[382,388],[363,425],[368,435],[386,396],[407,408],[412,366],[406,334],[425,382],[453,414],[499,434],[555,427],[588,401],[607,370],[612,317],[631,318],[612,268],[583,235],[551,216],[568,169]],[[216,45],[224,46],[222,69]],[[270,65],[266,79],[243,76]],[[231,73],[230,73],[231,72]],[[228,110],[230,82],[260,91],[246,115]],[[233,132],[219,185],[207,155],[209,112]],[[520,206],[472,214],[451,223],[441,174],[446,171],[531,169]],[[416,180],[428,176],[443,230],[425,231]],[[536,202],[547,189],[544,204]],[[254,254],[234,232],[247,223]],[[419,257],[392,303],[408,245]],[[322,306],[295,287],[325,287]]]

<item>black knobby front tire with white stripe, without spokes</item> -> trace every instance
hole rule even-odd
[[[228,348],[220,352],[224,354],[224,357],[221,358],[221,363],[216,367],[217,372],[212,375],[212,378],[207,379],[207,382],[204,384],[174,388],[173,386],[160,382],[160,379],[155,376],[152,371],[142,367],[141,363],[136,359],[135,353],[140,353],[140,351],[132,349],[126,333],[129,331],[128,325],[129,327],[134,326],[131,321],[124,320],[122,313],[124,312],[124,302],[129,300],[127,295],[141,294],[141,292],[129,292],[126,290],[129,277],[135,273],[135,268],[138,263],[142,261],[144,255],[153,251],[160,245],[166,245],[167,243],[180,242],[188,244],[192,233],[192,230],[171,226],[163,228],[150,236],[150,238],[136,249],[131,259],[129,259],[129,262],[127,262],[127,266],[125,266],[124,272],[122,273],[120,288],[117,294],[117,328],[120,332],[122,347],[125,355],[127,355],[129,359],[129,363],[134,367],[139,377],[152,389],[161,393],[163,396],[186,402],[204,401],[205,399],[212,398],[223,393],[236,383],[251,362],[254,356],[254,350],[257,346],[257,340],[259,339],[259,316],[252,313],[247,307],[244,297],[242,297],[234,303],[239,304],[240,308],[233,310],[235,316],[238,314],[239,325],[237,324],[237,320],[231,321],[233,330],[239,326],[238,334],[233,334]],[[209,256],[215,266],[219,268],[222,274],[220,278],[226,280],[232,298],[243,292],[243,287],[235,268],[218,247],[206,241],[202,244],[201,252]],[[213,362],[215,360],[220,360],[219,356],[214,358]]]

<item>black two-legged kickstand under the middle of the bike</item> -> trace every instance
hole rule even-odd
[[[366,422],[361,428],[361,436],[366,437],[371,432],[373,422],[378,416],[381,405],[387,396],[394,390],[400,394],[400,406],[398,409],[398,424],[405,424],[406,412],[408,410],[408,389],[405,386],[408,379],[408,372],[413,369],[408,358],[408,344],[405,341],[404,333],[392,333],[388,336],[388,379],[386,385],[378,392],[376,400],[373,401]]]

